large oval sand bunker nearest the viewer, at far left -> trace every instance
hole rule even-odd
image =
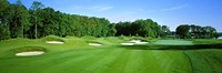
[[[17,53],[16,55],[17,56],[32,56],[32,55],[41,55],[43,53],[44,53],[43,51],[30,51],[30,52],[20,52],[20,53]]]

